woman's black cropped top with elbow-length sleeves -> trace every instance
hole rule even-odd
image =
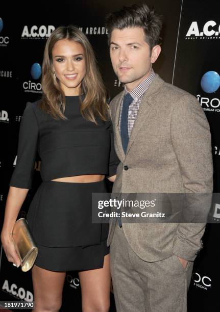
[[[67,120],[40,110],[40,100],[27,103],[19,130],[17,162],[10,186],[30,189],[38,151],[43,181],[84,174],[116,174],[111,121],[88,121],[80,114],[79,96],[66,96]]]

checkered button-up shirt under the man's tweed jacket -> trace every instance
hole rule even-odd
[[[152,81],[155,78],[155,72],[152,69],[150,75],[148,77],[146,77],[146,79],[144,79],[137,87],[135,87],[131,92],[131,96],[134,99],[130,106],[129,106],[129,110],[128,110],[128,136],[130,138],[131,132],[132,132],[132,128],[135,122],[135,119],[137,117],[137,113],[140,107],[140,103],[141,103],[141,99],[143,97],[143,94],[145,93],[145,91],[149,88],[150,84],[152,83]],[[125,86],[125,94],[127,94],[128,91],[126,89]],[[123,97],[124,99],[124,97]],[[122,111],[122,107],[123,107],[123,99],[120,103],[120,115],[119,115],[119,123],[118,123],[118,127],[119,127],[119,131],[120,131],[120,120],[121,120],[121,111]]]

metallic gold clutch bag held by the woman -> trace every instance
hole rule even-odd
[[[21,270],[23,272],[29,271],[37,257],[38,248],[25,218],[20,218],[15,222],[12,230],[12,241],[20,259]]]

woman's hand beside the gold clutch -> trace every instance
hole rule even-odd
[[[1,241],[8,261],[16,264],[16,267],[18,268],[20,266],[20,260],[16,253],[10,234],[2,232]]]

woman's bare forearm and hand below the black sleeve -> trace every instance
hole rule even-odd
[[[28,189],[20,189],[15,187],[9,188],[5,208],[4,224],[1,232],[1,241],[8,261],[15,263],[17,267],[20,265],[20,261],[11,239],[11,233],[27,193]]]

